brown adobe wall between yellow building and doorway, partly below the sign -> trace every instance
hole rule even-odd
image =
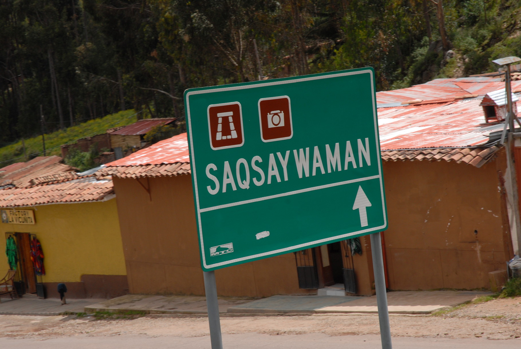
[[[150,197],[138,180],[114,178],[130,292],[204,294],[191,177],[140,181]],[[293,253],[219,269],[216,279],[223,296],[316,293],[299,289]]]

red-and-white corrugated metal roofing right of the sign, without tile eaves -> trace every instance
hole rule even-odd
[[[378,92],[382,150],[484,145],[504,124],[484,124],[479,105],[486,93],[504,88],[498,78],[436,79],[411,88]],[[513,81],[512,89],[521,88]],[[455,99],[464,94],[479,96]],[[417,104],[401,103],[423,99]]]

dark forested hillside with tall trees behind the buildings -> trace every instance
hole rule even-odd
[[[0,145],[194,86],[373,66],[379,90],[520,55],[521,0],[3,0]],[[451,51],[450,51],[451,50]]]

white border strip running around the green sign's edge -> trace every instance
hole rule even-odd
[[[376,101],[375,101],[375,90],[374,90],[375,86],[373,84],[373,70],[371,70],[371,69],[363,69],[363,70],[357,70],[357,71],[346,71],[346,72],[336,73],[336,74],[334,74],[334,73],[333,74],[324,74],[324,75],[319,75],[319,76],[305,77],[305,78],[301,78],[301,79],[297,78],[297,79],[282,80],[282,81],[269,81],[268,80],[268,81],[266,81],[264,83],[257,83],[257,84],[251,84],[251,85],[239,85],[239,86],[230,86],[230,87],[226,87],[226,88],[216,88],[216,89],[206,89],[206,90],[190,91],[190,92],[188,92],[186,94],[186,98],[187,98],[187,120],[188,120],[189,130],[192,130],[192,119],[191,119],[191,115],[190,115],[190,102],[189,102],[189,98],[190,98],[191,95],[203,94],[203,93],[212,93],[212,92],[221,92],[221,91],[254,89],[254,88],[259,88],[259,87],[263,87],[263,86],[282,85],[282,84],[287,84],[287,83],[311,81],[311,80],[320,80],[320,79],[329,79],[329,78],[343,77],[343,76],[356,75],[356,74],[365,74],[365,73],[369,73],[369,77],[371,79],[370,85],[371,85],[371,99],[373,99],[373,118],[374,118],[375,125],[376,125],[376,127],[375,127],[375,140],[376,140],[376,148],[379,149],[380,147],[379,147],[379,138],[378,138],[378,118],[377,118],[377,113],[376,113]],[[241,110],[241,113],[242,113],[242,110]],[[243,132],[244,132],[244,130],[243,130]],[[241,261],[245,261],[245,260],[256,259],[256,258],[259,258],[259,257],[265,257],[265,256],[269,256],[269,255],[283,253],[283,252],[289,252],[291,250],[296,250],[298,248],[305,248],[305,247],[308,247],[308,246],[317,245],[317,244],[325,243],[325,242],[332,241],[332,240],[338,240],[338,239],[341,239],[341,238],[349,239],[350,236],[363,234],[363,233],[370,232],[370,231],[378,231],[378,230],[380,230],[380,229],[382,229],[382,228],[387,226],[387,215],[386,215],[386,209],[385,209],[385,198],[384,198],[384,193],[383,193],[383,179],[382,179],[381,160],[378,159],[378,178],[380,180],[380,194],[381,194],[381,199],[382,199],[382,212],[383,212],[383,225],[382,226],[374,227],[374,228],[368,228],[368,229],[363,229],[363,230],[355,231],[355,232],[348,233],[348,234],[341,234],[341,235],[337,235],[337,236],[332,236],[331,238],[315,240],[315,241],[312,241],[312,242],[299,244],[299,245],[293,245],[293,246],[290,246],[290,247],[279,248],[278,250],[264,252],[264,253],[259,253],[259,254],[256,254],[256,255],[235,258],[235,259],[227,260],[227,261],[220,262],[220,263],[206,264],[206,258],[205,258],[205,253],[204,253],[203,227],[201,226],[201,208],[199,206],[199,190],[197,188],[197,175],[196,175],[196,172],[195,172],[195,156],[194,156],[194,153],[193,153],[194,147],[193,147],[192,132],[190,132],[190,140],[189,141],[190,141],[190,149],[192,150],[192,152],[190,154],[191,155],[191,166],[190,166],[190,168],[191,168],[191,171],[192,171],[193,183],[194,183],[195,205],[196,205],[196,210],[197,210],[196,214],[197,214],[197,218],[198,218],[197,225],[199,226],[199,240],[200,240],[200,244],[201,244],[201,246],[200,246],[200,248],[201,248],[201,259],[203,260],[203,266],[206,269],[222,267],[222,266],[235,264],[235,263],[238,263],[238,262],[241,262]],[[380,156],[380,155],[378,154],[378,156]],[[362,179],[362,180],[366,180],[366,179]],[[306,190],[303,189],[302,191],[306,191]],[[299,192],[299,191],[296,191],[294,194],[297,194],[297,192]]]

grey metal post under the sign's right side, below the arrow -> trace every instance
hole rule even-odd
[[[391,325],[387,308],[386,278],[383,269],[382,241],[380,233],[370,235],[371,253],[373,254],[373,271],[375,273],[376,302],[378,305],[378,321],[380,322],[380,338],[382,349],[392,349]]]

